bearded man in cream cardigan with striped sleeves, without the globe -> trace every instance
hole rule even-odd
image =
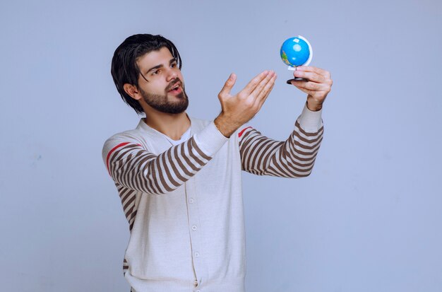
[[[186,115],[181,57],[160,35],[132,35],[117,48],[112,77],[121,97],[145,113],[136,129],[109,138],[103,159],[117,186],[131,235],[124,276],[132,291],[244,291],[241,170],[257,175],[311,173],[323,127],[330,74],[299,68],[292,81],[308,94],[287,141],[243,125],[275,83],[263,71],[236,95],[231,74],[213,122]]]

